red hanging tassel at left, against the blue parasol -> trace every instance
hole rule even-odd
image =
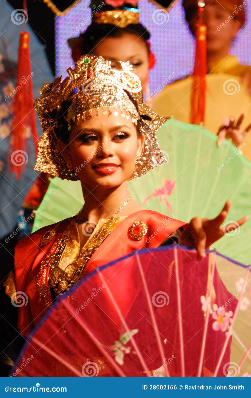
[[[20,33],[15,91],[8,157],[10,159],[10,170],[12,173],[16,173],[16,179],[19,179],[22,166],[25,168],[25,164],[28,162],[28,137],[32,136],[33,138],[36,155],[38,142],[36,116],[33,107],[34,98],[28,32]]]

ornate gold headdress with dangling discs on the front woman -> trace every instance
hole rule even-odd
[[[96,109],[96,116],[99,110],[108,115],[112,112],[118,115],[121,111],[122,116],[131,117],[132,122],[138,124],[145,135],[145,142],[130,179],[142,176],[167,161],[155,135],[165,119],[143,103],[140,79],[132,72],[129,62],[121,62],[121,70],[117,70],[103,57],[84,55],[74,69],[67,71],[69,76],[63,81],[61,76],[51,84],[45,83],[34,104],[43,128],[35,170],[62,179],[77,179],[76,174],[68,170],[57,145],[59,115],[65,101],[70,104],[64,114],[68,130],[72,123],[90,119],[92,109]]]

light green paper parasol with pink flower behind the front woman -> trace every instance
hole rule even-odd
[[[218,252],[251,263],[251,163],[228,140],[202,126],[169,119],[157,133],[168,162],[128,182],[132,197],[144,208],[189,222],[214,218],[227,200],[226,225],[244,215],[249,220],[214,244]],[[84,203],[80,182],[53,178],[37,210],[33,232],[78,213]],[[167,218],[168,222],[168,218]]]

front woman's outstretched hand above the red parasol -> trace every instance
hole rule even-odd
[[[230,207],[231,202],[227,201],[220,214],[212,220],[194,217],[181,233],[180,244],[195,247],[198,260],[202,259],[206,254],[205,250],[211,244],[222,238],[226,233],[239,228],[247,221],[247,216],[245,216],[238,221],[221,227],[221,224],[226,220]]]

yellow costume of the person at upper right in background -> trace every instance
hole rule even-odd
[[[240,65],[233,55],[220,62],[209,64],[206,77],[206,115],[204,127],[214,134],[226,117],[236,119],[245,114],[245,127],[251,123],[251,96],[241,77],[249,66]],[[164,117],[174,116],[180,121],[190,122],[192,76],[168,84],[153,101],[153,109]],[[241,144],[243,155],[251,161],[251,132]]]

